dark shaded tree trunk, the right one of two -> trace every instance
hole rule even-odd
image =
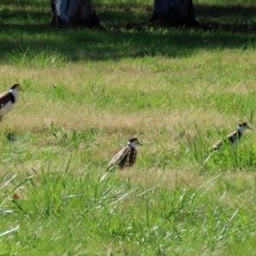
[[[151,21],[167,26],[195,26],[195,10],[192,0],[154,0]]]

